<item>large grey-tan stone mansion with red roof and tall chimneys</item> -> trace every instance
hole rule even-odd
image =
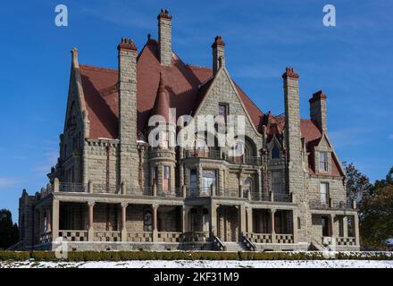
[[[60,155],[45,188],[20,198],[20,248],[71,250],[359,249],[355,202],[327,128],[326,95],[299,115],[299,75],[282,74],[285,113],[263,113],[230,78],[217,36],[212,66],[183,63],[171,48],[171,14],[139,51],[117,46],[116,70],[79,64],[71,77]],[[244,150],[148,143],[152,115],[245,118]],[[175,118],[175,119],[177,119]],[[176,131],[180,132],[181,128]],[[201,141],[202,138],[202,141]],[[165,137],[163,137],[163,141]]]

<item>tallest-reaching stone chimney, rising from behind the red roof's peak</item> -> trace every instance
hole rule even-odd
[[[161,9],[158,20],[158,46],[160,63],[171,66],[171,14]]]

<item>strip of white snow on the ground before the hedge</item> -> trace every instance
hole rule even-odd
[[[0,261],[0,268],[393,268],[393,260]]]

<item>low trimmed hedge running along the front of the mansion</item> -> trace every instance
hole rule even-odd
[[[330,259],[393,260],[388,252],[338,252]],[[0,261],[55,261],[52,251],[0,251]],[[73,251],[67,261],[125,260],[323,260],[322,252]]]

